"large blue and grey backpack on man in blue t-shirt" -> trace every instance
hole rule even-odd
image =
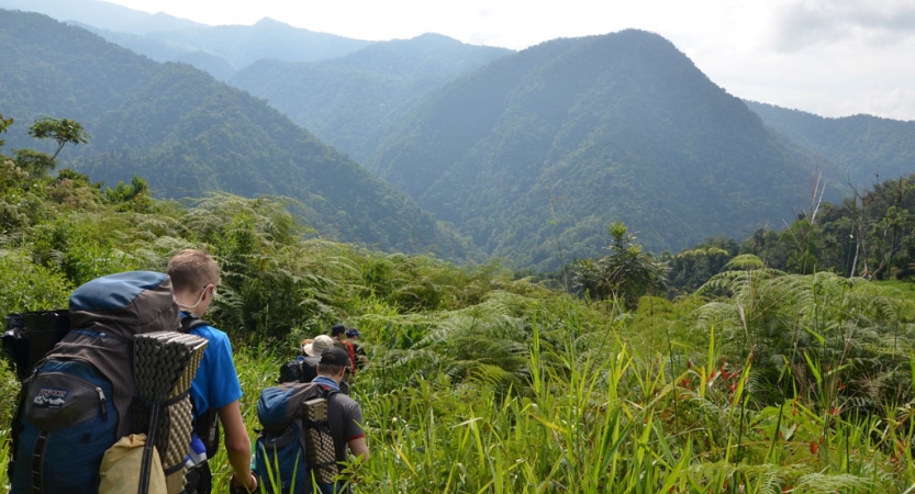
[[[134,271],[70,296],[70,330],[23,382],[13,425],[11,493],[98,492],[99,467],[131,434],[133,336],[180,327],[171,281]]]

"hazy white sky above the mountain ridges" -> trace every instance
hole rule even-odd
[[[915,0],[108,0],[205,24],[269,16],[361,40],[445,34],[523,49],[658,33],[739,98],[824,116],[915,120]]]

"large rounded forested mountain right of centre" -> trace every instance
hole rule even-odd
[[[556,40],[455,81],[367,164],[492,255],[555,268],[624,221],[649,249],[781,224],[807,157],[669,42]]]

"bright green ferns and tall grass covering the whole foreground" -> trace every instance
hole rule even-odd
[[[915,484],[906,285],[785,273],[743,255],[695,293],[644,296],[626,310],[499,265],[303,240],[278,198],[217,194],[182,206],[150,198],[138,178],[103,190],[71,170],[0,164],[0,312],[65,306],[93,277],[161,270],[178,249],[208,248],[224,271],[213,319],[232,336],[250,429],[259,391],[301,337],[337,321],[359,327],[371,363],[354,395],[372,456],[352,465],[358,492]],[[621,248],[611,256],[638,258],[625,227],[612,233]],[[0,375],[5,431],[18,383],[8,369]],[[224,453],[213,464],[223,491]]]

